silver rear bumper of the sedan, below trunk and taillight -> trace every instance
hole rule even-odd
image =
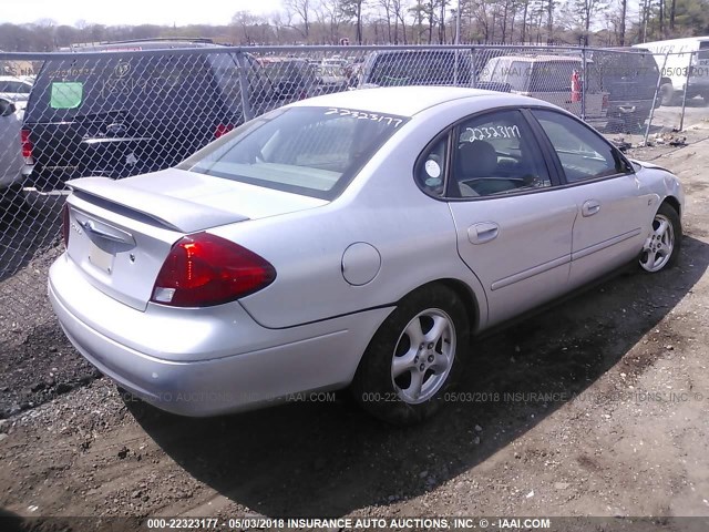
[[[140,311],[105,296],[65,255],[50,269],[49,297],[68,338],[100,371],[157,408],[197,417],[347,386],[390,311],[274,330],[235,303],[194,323],[185,313],[173,320],[175,309]]]

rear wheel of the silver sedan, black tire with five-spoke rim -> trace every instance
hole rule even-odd
[[[354,399],[393,424],[430,418],[460,374],[469,330],[465,306],[446,286],[404,297],[364,351],[351,386]]]

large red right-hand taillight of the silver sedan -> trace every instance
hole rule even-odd
[[[151,301],[208,307],[270,285],[276,269],[263,257],[219,236],[198,233],[177,241],[157,274]]]

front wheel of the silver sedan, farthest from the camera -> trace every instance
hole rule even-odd
[[[668,203],[660,205],[653,219],[653,231],[645,241],[639,265],[643,270],[656,274],[672,267],[679,259],[682,224],[679,214]]]

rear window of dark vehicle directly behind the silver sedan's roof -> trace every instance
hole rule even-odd
[[[456,81],[459,84],[470,83],[470,79],[471,61],[467,53],[431,50],[376,55],[366,82],[380,86],[452,85]]]

